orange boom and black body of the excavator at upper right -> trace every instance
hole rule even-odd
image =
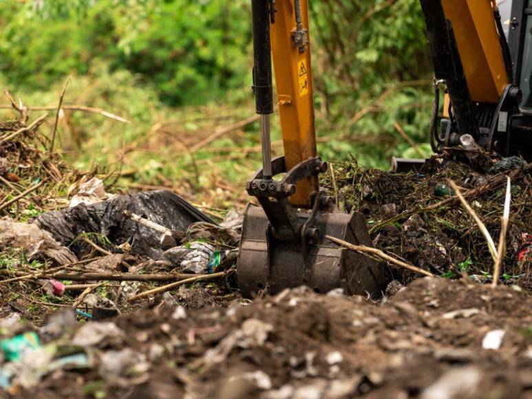
[[[432,149],[467,134],[488,151],[531,160],[532,1],[420,1],[436,76]]]

